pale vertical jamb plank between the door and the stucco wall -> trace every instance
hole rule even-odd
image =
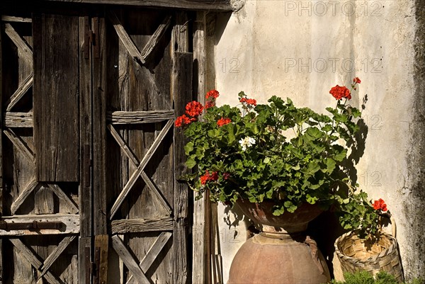
[[[196,13],[196,21],[193,35],[193,80],[196,93],[198,93],[198,101],[205,106],[205,73],[206,73],[206,55],[205,55],[205,12],[200,11]],[[196,259],[192,263],[192,283],[208,283],[205,278],[208,273],[205,269],[209,270],[206,263],[208,254],[209,242],[205,237],[205,203],[209,200],[203,194],[203,198],[196,200],[193,196],[193,225],[192,225],[192,243],[193,254],[192,259]]]

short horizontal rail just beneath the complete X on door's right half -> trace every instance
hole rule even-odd
[[[156,232],[172,231],[173,218],[155,217],[146,219],[113,220],[111,222],[112,234],[126,234],[131,232]]]

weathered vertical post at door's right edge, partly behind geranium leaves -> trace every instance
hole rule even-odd
[[[188,101],[192,100],[193,54],[188,52],[188,18],[183,11],[176,12],[176,24],[171,33],[171,93],[176,115],[184,113]],[[181,129],[174,129],[174,230],[173,230],[173,278],[175,284],[186,284],[191,276],[188,268],[188,188],[177,182],[183,174],[184,136]]]

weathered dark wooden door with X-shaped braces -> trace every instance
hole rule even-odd
[[[186,283],[187,13],[1,20],[0,283]]]

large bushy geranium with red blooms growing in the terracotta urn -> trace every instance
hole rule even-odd
[[[272,96],[257,104],[241,91],[239,106],[215,106],[220,95],[209,91],[205,106],[192,101],[176,119],[188,138],[184,178],[194,191],[210,192],[214,202],[234,204],[273,200],[274,215],[294,212],[302,203],[326,208],[348,197],[342,163],[351,150],[361,111],[350,105],[351,89],[334,86],[328,114],[297,108],[289,98]]]

